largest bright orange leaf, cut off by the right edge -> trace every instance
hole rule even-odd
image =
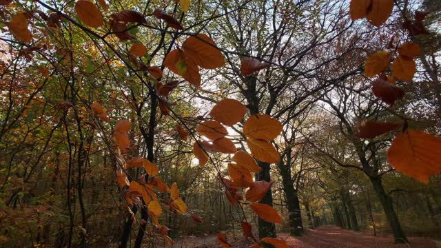
[[[398,134],[387,161],[398,172],[428,183],[429,176],[441,172],[441,138],[418,130]]]

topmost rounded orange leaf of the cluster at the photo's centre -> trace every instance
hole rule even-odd
[[[223,99],[218,102],[209,112],[214,120],[223,123],[223,125],[232,126],[242,121],[243,116],[247,112],[247,107],[234,99]]]

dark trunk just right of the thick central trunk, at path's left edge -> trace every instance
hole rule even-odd
[[[288,164],[289,165],[289,164]],[[297,190],[294,189],[294,184],[291,178],[291,168],[288,165],[283,165],[280,161],[280,175],[283,179],[283,191],[286,195],[286,203],[289,217],[289,235],[301,236],[303,232],[302,215],[300,212],[300,203],[298,201]]]

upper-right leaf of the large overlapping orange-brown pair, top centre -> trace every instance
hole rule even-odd
[[[222,52],[216,48],[216,43],[207,34],[196,34],[196,37],[189,37],[184,41],[183,49],[189,59],[192,59],[201,68],[216,69],[225,65]]]

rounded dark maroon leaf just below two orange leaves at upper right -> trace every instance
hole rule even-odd
[[[402,88],[385,81],[377,79],[372,82],[372,91],[375,96],[389,105],[393,105],[395,101],[400,100],[404,96]]]

